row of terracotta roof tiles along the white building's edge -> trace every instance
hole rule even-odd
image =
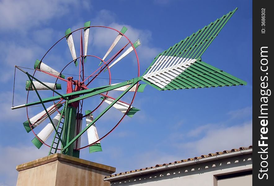
[[[252,145],[250,145],[249,147],[232,148],[231,150],[224,150],[222,152],[209,153],[207,155],[196,156],[196,157],[193,157],[193,158],[183,159],[183,160],[179,160],[179,161],[175,161],[175,162],[157,164],[155,166],[146,167],[146,168],[142,168],[142,169],[135,169],[135,170],[130,170],[130,171],[126,171],[126,172],[120,172],[118,174],[106,176],[104,179],[119,176],[119,175],[126,175],[126,174],[129,174],[129,173],[138,172],[138,171],[142,171],[142,170],[153,169],[153,168],[156,168],[156,167],[167,166],[167,165],[172,165],[172,164],[182,163],[182,162],[189,162],[189,161],[192,161],[192,160],[203,159],[203,158],[207,158],[207,157],[213,157],[213,156],[217,156],[217,155],[221,155],[221,154],[227,154],[227,153],[233,153],[233,152],[237,152],[237,151],[243,151],[243,150],[247,150],[247,149],[252,149]]]

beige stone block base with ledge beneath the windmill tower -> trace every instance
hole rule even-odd
[[[16,170],[18,171],[16,186],[109,186],[110,183],[103,179],[114,173],[116,168],[55,153],[18,165]]]

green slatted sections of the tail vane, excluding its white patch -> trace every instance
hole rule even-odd
[[[235,8],[233,11],[228,12],[221,18],[204,26],[196,33],[192,33],[192,35],[176,43],[174,46],[169,47],[154,58],[144,74],[146,74],[155,61],[163,55],[197,60],[178,77],[173,79],[168,85],[164,88],[160,88],[144,78],[141,78],[142,81],[158,90],[245,85],[245,81],[201,61],[201,55],[237,9],[238,8]]]

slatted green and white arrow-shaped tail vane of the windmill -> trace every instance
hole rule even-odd
[[[158,90],[246,85],[245,81],[201,61],[201,55],[236,10],[157,55],[141,79]]]

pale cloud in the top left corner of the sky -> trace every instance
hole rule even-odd
[[[0,2],[1,30],[30,29],[41,22],[60,17],[69,11],[73,0],[3,0]]]

